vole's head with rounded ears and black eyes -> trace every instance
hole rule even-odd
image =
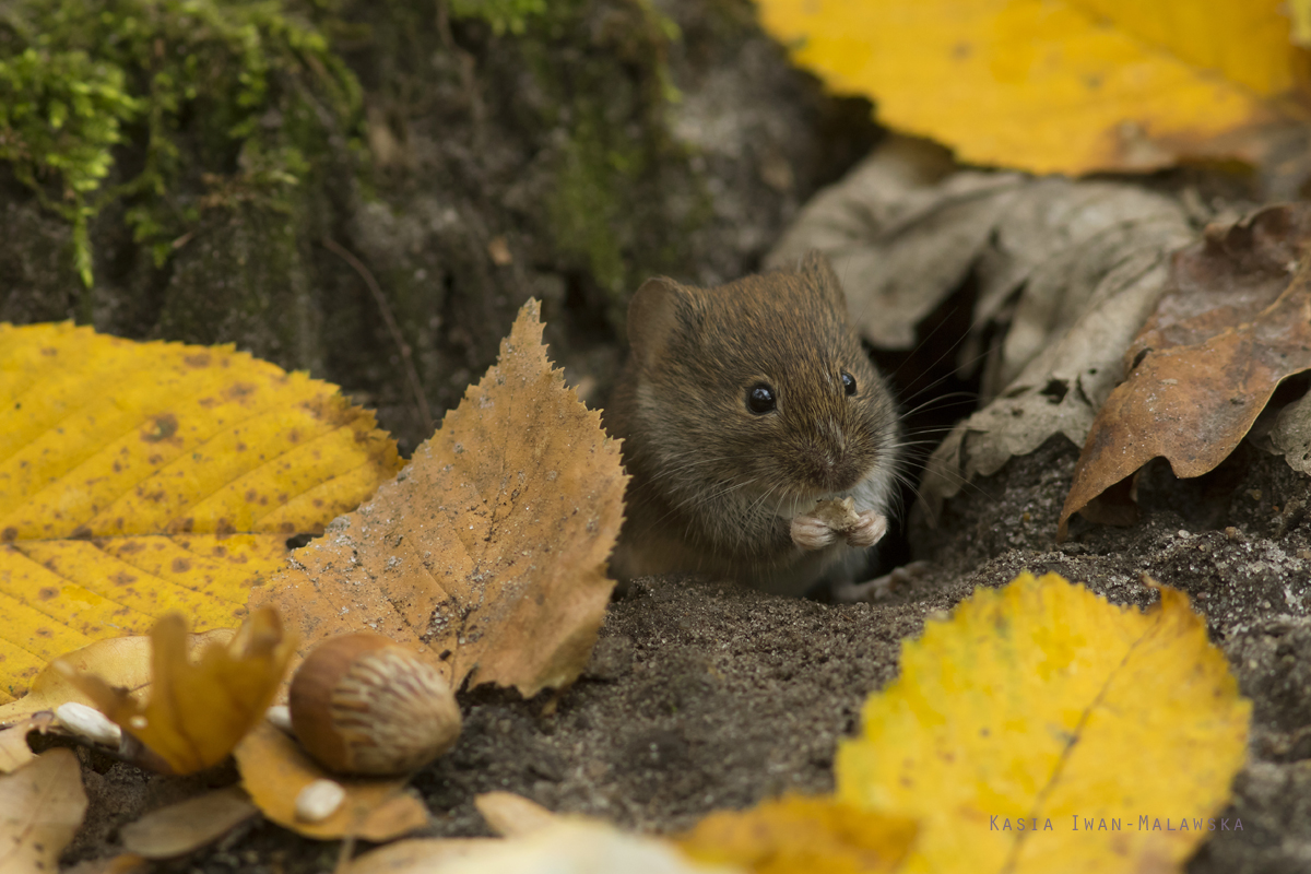
[[[648,280],[628,337],[642,440],[680,501],[796,507],[890,477],[893,400],[818,253],[716,288]]]

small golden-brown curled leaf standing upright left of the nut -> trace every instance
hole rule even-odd
[[[273,609],[254,611],[227,646],[207,646],[194,663],[180,615],[156,622],[149,639],[151,693],[144,705],[72,662],[55,666],[146,747],[142,764],[177,774],[219,764],[264,719],[295,647],[295,636],[283,636]]]

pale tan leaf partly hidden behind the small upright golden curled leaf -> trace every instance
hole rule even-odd
[[[197,658],[211,645],[225,646],[233,634],[235,629],[219,628],[187,636],[187,658]],[[59,656],[59,660],[79,674],[94,674],[109,685],[123,689],[138,700],[143,700],[151,687],[151,638],[147,636],[96,641]],[[90,696],[79,689],[62,670],[47,664],[31,681],[31,691],[28,694],[0,705],[0,725],[24,719],[42,710],[54,710],[68,702],[94,706]]]

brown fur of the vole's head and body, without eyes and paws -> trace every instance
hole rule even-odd
[[[821,498],[853,494],[859,510],[885,512],[899,442],[891,396],[822,256],[716,288],[648,280],[628,337],[606,411],[632,474],[616,574],[699,571],[801,594],[859,558],[844,544],[804,552],[789,533]],[[758,383],[775,389],[775,411],[747,409]]]

